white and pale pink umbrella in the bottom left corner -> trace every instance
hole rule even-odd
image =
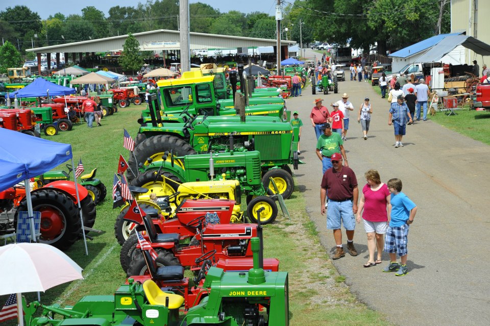
[[[44,243],[14,243],[0,247],[0,295],[17,293],[20,326],[23,325],[22,292],[45,291],[83,279],[82,267],[61,250]]]

